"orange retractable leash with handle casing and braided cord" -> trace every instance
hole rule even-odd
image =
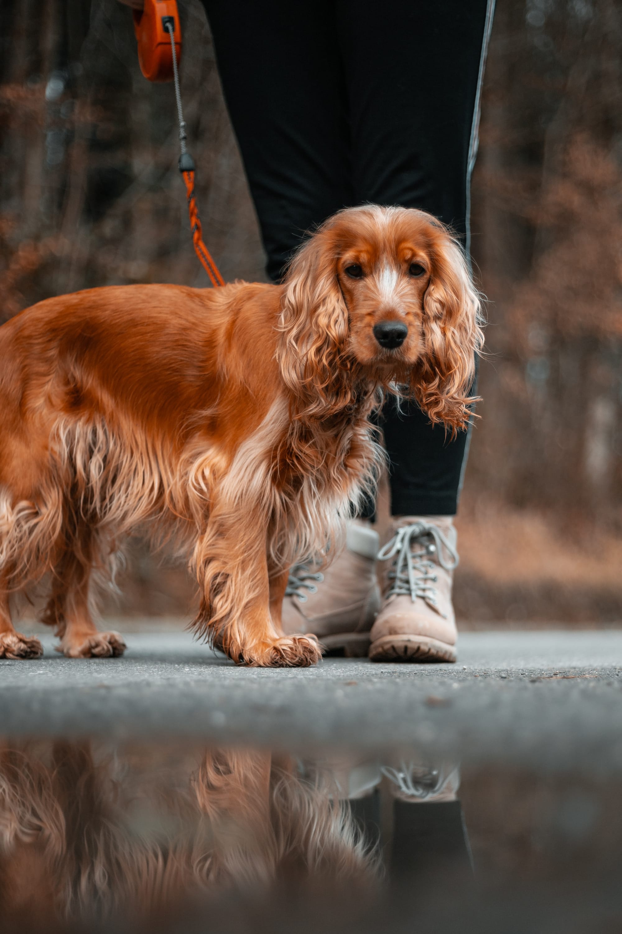
[[[145,0],[142,12],[134,10],[134,35],[138,40],[140,70],[149,81],[175,82],[177,119],[179,120],[179,171],[188,192],[192,243],[213,286],[223,286],[224,279],[203,242],[201,219],[194,196],[194,160],[186,146],[186,122],[181,109],[177,62],[181,59],[181,26],[177,0]]]

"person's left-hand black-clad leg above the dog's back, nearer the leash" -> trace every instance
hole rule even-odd
[[[277,281],[304,233],[352,204],[333,0],[204,0],[222,88]]]

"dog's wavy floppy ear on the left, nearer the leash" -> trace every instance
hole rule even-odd
[[[351,397],[344,359],[347,309],[336,254],[332,230],[324,226],[298,250],[285,280],[278,361],[305,417],[327,417]]]

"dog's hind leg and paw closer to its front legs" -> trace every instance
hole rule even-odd
[[[125,651],[119,632],[100,632],[92,621],[91,577],[94,532],[86,527],[72,536],[53,571],[52,591],[42,621],[54,626],[68,658],[110,658]]]

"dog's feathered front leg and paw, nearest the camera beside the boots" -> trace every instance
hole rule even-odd
[[[320,658],[318,643],[307,636],[283,636],[271,615],[266,525],[259,512],[240,515],[214,504],[194,552],[202,590],[194,628],[240,665],[313,665]],[[273,586],[273,606],[274,601]]]

